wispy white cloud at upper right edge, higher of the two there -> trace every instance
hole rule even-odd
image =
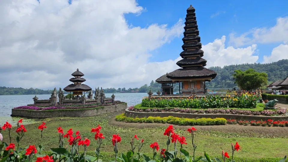
[[[277,19],[275,26],[271,28],[253,28],[250,31],[236,36],[235,33],[229,35],[229,43],[238,47],[254,43],[275,43],[288,41],[288,17]]]

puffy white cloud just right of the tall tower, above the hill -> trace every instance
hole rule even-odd
[[[246,48],[234,48],[233,46],[225,48],[225,41],[226,37],[222,36],[221,39],[215,39],[212,43],[202,46],[203,58],[207,60],[207,67],[255,63],[258,60],[258,56],[255,55],[256,44]]]

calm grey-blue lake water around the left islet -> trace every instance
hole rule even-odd
[[[105,96],[109,98],[112,93],[105,93]],[[128,107],[136,104],[140,104],[144,96],[148,96],[147,93],[115,93],[115,100],[126,102]],[[33,97],[35,95],[0,95],[0,125],[3,125],[6,121],[15,124],[20,118],[11,117],[11,109],[18,106],[25,106],[27,104],[33,104]],[[39,100],[49,99],[51,95],[37,95]],[[94,97],[94,94],[93,94]],[[27,119],[26,122],[32,122],[33,120]],[[25,122],[25,120],[23,121]]]

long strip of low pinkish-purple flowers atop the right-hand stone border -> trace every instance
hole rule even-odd
[[[255,115],[255,116],[279,116],[287,113],[284,108],[277,110],[237,110],[237,109],[190,109],[179,107],[165,107],[165,108],[135,108],[134,106],[128,107],[129,111],[135,112],[173,112],[173,113],[189,113],[189,114],[236,114],[236,115]]]

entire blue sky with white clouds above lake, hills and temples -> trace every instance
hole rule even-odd
[[[288,59],[288,1],[0,1],[0,86],[135,88],[179,69],[186,9],[207,68]]]

